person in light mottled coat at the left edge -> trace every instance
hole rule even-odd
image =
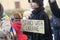
[[[8,33],[11,27],[10,20],[3,18],[4,9],[2,4],[0,3],[0,40],[10,40]],[[4,19],[4,20],[3,20]]]

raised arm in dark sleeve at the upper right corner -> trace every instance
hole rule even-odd
[[[56,0],[49,0],[49,5],[51,8],[52,13],[56,16],[60,18],[60,12],[59,12],[59,8],[58,5],[56,3]]]

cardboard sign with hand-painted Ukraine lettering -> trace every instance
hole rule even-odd
[[[44,20],[21,20],[23,31],[45,34]]]

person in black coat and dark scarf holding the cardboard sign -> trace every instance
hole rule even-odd
[[[45,34],[25,32],[29,36],[29,40],[52,40],[52,33],[50,27],[50,20],[44,11],[43,0],[28,0],[32,9],[30,20],[44,20]]]

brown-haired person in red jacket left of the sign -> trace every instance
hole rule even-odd
[[[21,22],[21,19],[22,19],[22,15],[19,13],[15,13],[14,15],[14,20],[12,22],[12,27],[15,29],[16,31],[16,37],[17,37],[17,40],[28,40],[28,36],[25,35],[22,31],[22,22]]]

